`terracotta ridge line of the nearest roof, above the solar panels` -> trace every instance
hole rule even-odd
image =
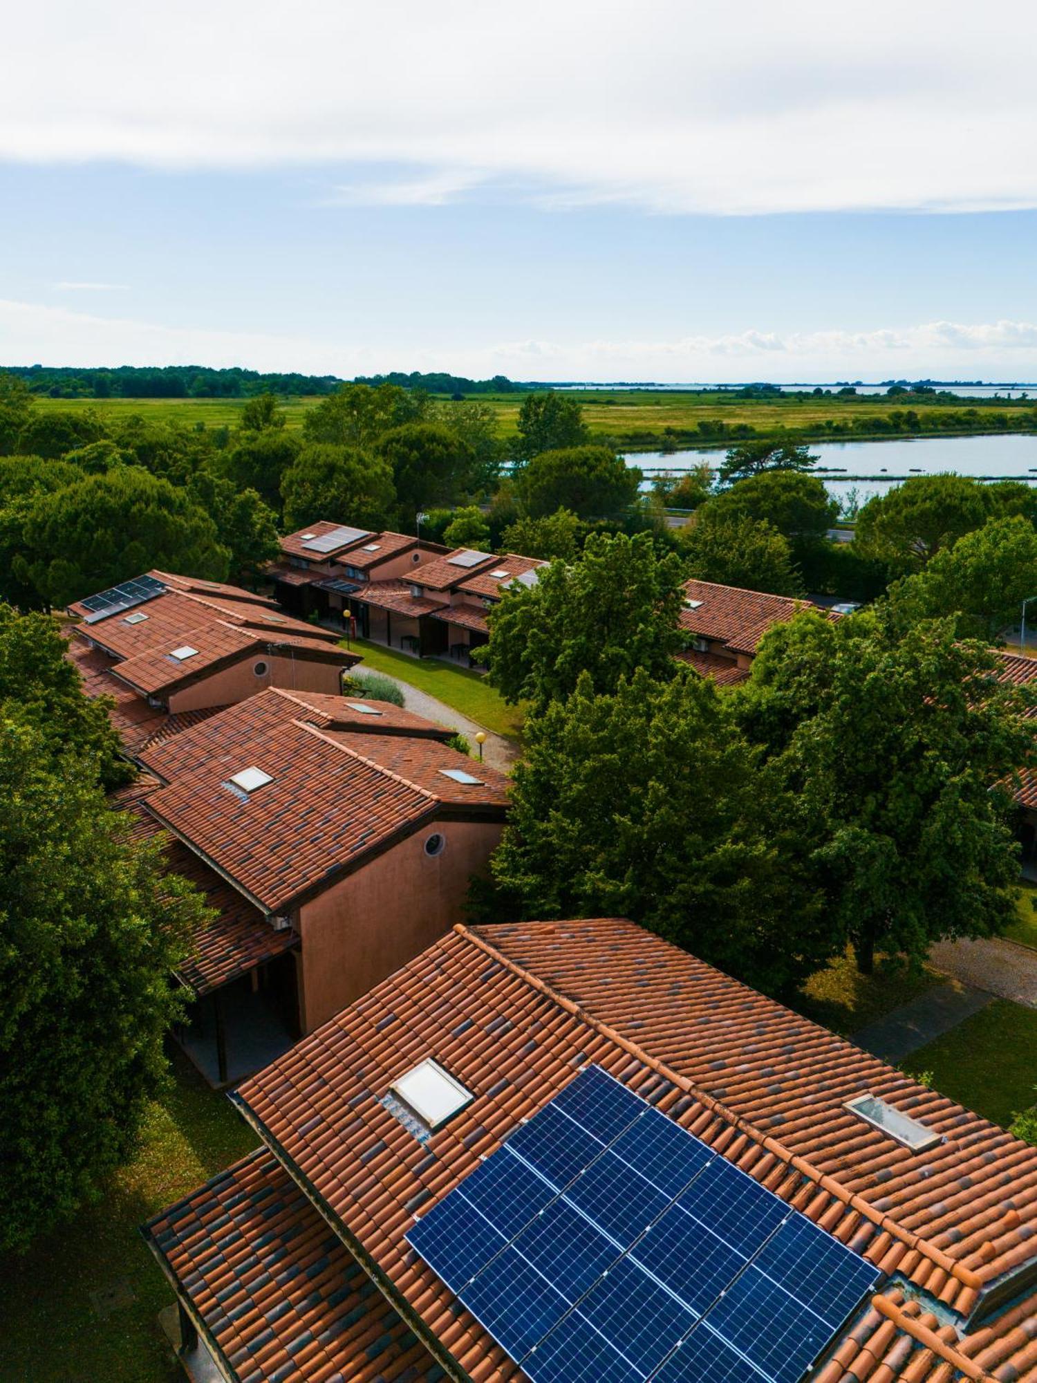
[[[534,975],[532,971],[528,971],[524,965],[520,965],[517,964],[517,961],[513,961],[510,956],[505,954],[505,952],[494,946],[492,942],[485,940],[485,938],[483,938],[478,932],[466,927],[465,922],[456,922],[454,931],[456,932],[458,936],[462,936],[465,940],[471,942],[471,945],[477,946],[485,956],[489,956],[492,960],[498,961],[498,964],[509,969],[516,978],[524,981],[532,989],[536,989],[541,994],[553,1000],[556,1004],[559,1004],[559,1007],[564,1008],[566,1012],[572,1014],[575,1018],[579,1018],[581,1021],[586,1022],[596,1032],[601,1033],[603,1037],[607,1037],[610,1041],[617,1043],[619,1047],[622,1047],[624,1051],[629,1052],[632,1057],[636,1057],[637,1061],[642,1061],[651,1070],[657,1072],[657,1075],[664,1076],[673,1086],[676,1086],[678,1090],[683,1090],[684,1094],[691,1095],[704,1108],[709,1109],[731,1129],[736,1129],[738,1133],[742,1133],[748,1138],[752,1138],[754,1142],[765,1148],[780,1162],[784,1162],[785,1166],[792,1167],[807,1181],[812,1181],[823,1191],[827,1191],[828,1195],[835,1196],[837,1200],[842,1200],[843,1205],[850,1206],[853,1210],[857,1212],[857,1214],[863,1216],[866,1220],[870,1220],[871,1224],[877,1225],[879,1229],[884,1229],[892,1238],[899,1239],[901,1243],[907,1245],[908,1249],[914,1249],[917,1253],[921,1253],[924,1257],[929,1259],[944,1272],[950,1274],[950,1277],[957,1278],[958,1282],[962,1282],[965,1286],[972,1288],[975,1292],[980,1292],[983,1289],[983,1279],[971,1268],[966,1268],[957,1259],[951,1259],[950,1254],[936,1247],[936,1245],[929,1243],[928,1241],[913,1234],[910,1229],[906,1229],[903,1225],[897,1224],[896,1220],[892,1220],[882,1210],[877,1210],[868,1200],[857,1195],[857,1192],[849,1191],[839,1181],[835,1181],[834,1177],[828,1176],[828,1173],[824,1173],[819,1167],[814,1167],[814,1164],[807,1162],[806,1158],[802,1158],[799,1153],[792,1152],[791,1148],[787,1148],[777,1138],[763,1133],[762,1129],[758,1129],[748,1119],[744,1119],[733,1109],[729,1109],[722,1099],[718,1099],[715,1095],[711,1095],[707,1090],[702,1090],[700,1086],[695,1086],[693,1080],[689,1080],[687,1076],[682,1076],[679,1072],[673,1070],[673,1068],[669,1066],[665,1061],[661,1061],[658,1057],[653,1057],[651,1052],[647,1052],[636,1041],[632,1041],[624,1033],[618,1032],[618,1029],[613,1028],[610,1023],[603,1022],[600,1018],[595,1017],[595,1014],[589,1012],[586,1008],[582,1008],[574,999],[570,999],[567,994],[554,989],[553,985],[549,985],[546,981],[541,979],[539,975]]]

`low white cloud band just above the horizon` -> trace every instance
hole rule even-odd
[[[860,332],[748,329],[676,340],[436,343],[400,358],[391,343],[362,347],[310,336],[221,332],[101,317],[0,299],[0,362],[47,365],[245,365],[335,373],[451,369],[488,378],[774,383],[895,378],[1037,382],[1037,322],[924,322]]]

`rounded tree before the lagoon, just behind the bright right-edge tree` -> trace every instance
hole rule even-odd
[[[913,476],[868,499],[857,514],[853,545],[863,557],[903,575],[980,528],[989,513],[984,487],[966,476]]]

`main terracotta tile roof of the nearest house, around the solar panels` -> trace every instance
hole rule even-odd
[[[427,1057],[476,1098],[419,1144],[380,1101]],[[404,1234],[588,1062],[960,1328],[1037,1261],[1036,1148],[621,920],[456,928],[231,1098],[426,1343],[481,1383],[523,1375]],[[863,1123],[843,1108],[863,1091],[943,1141],[913,1153]]]

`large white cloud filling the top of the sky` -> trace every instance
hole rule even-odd
[[[4,25],[0,158],[389,163],[339,196],[398,205],[1033,207],[1034,40],[1031,0],[41,0]]]

